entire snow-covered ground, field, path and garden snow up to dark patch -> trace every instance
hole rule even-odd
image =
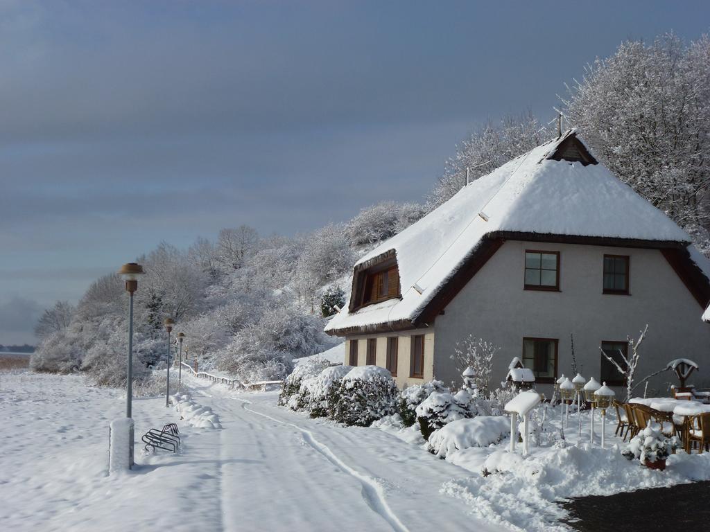
[[[133,401],[136,439],[175,422],[180,453],[137,445],[136,469],[109,477],[121,392],[80,376],[0,373],[0,530],[552,530],[564,528],[554,501],[565,497],[710,478],[710,454],[678,453],[658,472],[616,448],[574,446],[576,416],[566,444],[532,448],[525,461],[506,440],[439,460],[417,431],[388,420],[345,428],[276,406],[276,392],[183,377],[178,408]],[[557,409],[547,416],[559,423]]]

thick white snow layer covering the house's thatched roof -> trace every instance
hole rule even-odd
[[[394,250],[402,298],[353,313],[346,306],[325,330],[416,319],[481,240],[496,231],[690,242],[687,233],[603,165],[547,159],[575,134],[568,131],[476,179],[364,255],[356,265]]]

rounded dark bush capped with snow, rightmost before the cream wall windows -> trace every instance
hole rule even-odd
[[[354,367],[339,386],[332,387],[331,394],[337,400],[332,401],[329,416],[346,425],[370,426],[376,419],[397,411],[397,385],[383,367]]]

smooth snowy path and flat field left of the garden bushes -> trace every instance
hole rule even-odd
[[[235,394],[187,380],[192,399],[212,407],[223,428],[187,425],[164,399],[136,400],[136,435],[178,422],[182,452],[137,451],[136,470],[108,477],[120,392],[77,376],[0,374],[0,530],[501,529],[439,492],[469,472],[416,445],[307,419],[275,406],[275,392]]]

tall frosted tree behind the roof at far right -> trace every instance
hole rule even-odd
[[[710,39],[628,41],[562,98],[567,120],[618,177],[707,249]]]

